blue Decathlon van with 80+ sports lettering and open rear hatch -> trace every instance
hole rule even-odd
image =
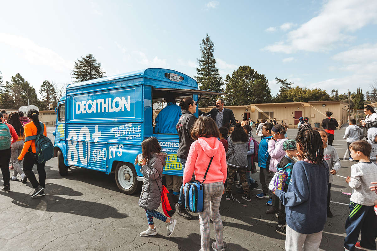
[[[178,134],[153,132],[153,118],[167,92],[177,99],[221,92],[198,90],[198,83],[178,71],[150,68],[101,79],[72,83],[58,101],[54,153],[60,175],[70,166],[115,173],[124,194],[141,187],[143,175],[134,165],[141,142],[155,136],[168,156],[163,174],[183,175],[177,160]],[[154,109],[155,108],[155,109]],[[194,114],[198,116],[198,107]],[[177,121],[178,122],[178,121]]]

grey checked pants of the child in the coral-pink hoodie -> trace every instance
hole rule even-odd
[[[222,221],[220,217],[220,201],[224,191],[224,183],[204,183],[204,211],[199,213],[200,236],[202,241],[201,251],[210,250],[210,219],[216,233],[216,245],[224,247],[222,240]]]

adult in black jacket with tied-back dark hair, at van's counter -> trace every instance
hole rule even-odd
[[[182,171],[184,172],[187,156],[189,155],[190,147],[194,140],[191,138],[191,128],[194,125],[196,117],[194,113],[196,112],[196,104],[192,97],[186,97],[179,102],[181,106],[182,115],[179,117],[178,124],[175,126],[179,136],[179,147],[177,152],[177,157],[182,165]],[[179,191],[178,200],[178,215],[185,219],[192,219],[192,216],[185,209],[184,202],[185,195],[183,194],[183,184],[181,190]]]

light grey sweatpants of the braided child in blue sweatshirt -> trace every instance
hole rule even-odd
[[[287,225],[285,251],[319,251],[322,231],[313,234],[301,234]]]

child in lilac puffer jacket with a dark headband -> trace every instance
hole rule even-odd
[[[283,150],[283,143],[285,139],[285,127],[281,124],[277,124],[271,129],[273,140],[268,142],[268,153],[270,154],[270,171],[277,171],[277,164],[285,156],[285,151]],[[267,202],[268,205],[272,206],[270,209],[266,210],[265,213],[278,213],[280,201],[273,195],[272,198]]]

